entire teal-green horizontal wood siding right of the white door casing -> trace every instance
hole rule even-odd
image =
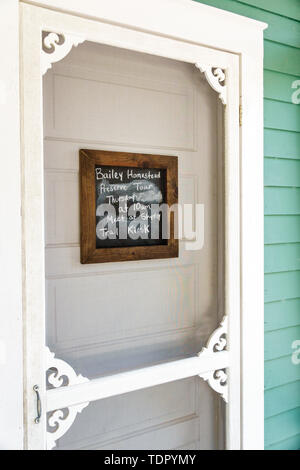
[[[265,447],[300,448],[300,0],[196,0],[268,23],[264,60]]]

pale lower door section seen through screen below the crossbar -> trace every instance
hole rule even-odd
[[[204,382],[190,378],[93,402],[58,448],[210,448],[215,440],[214,401]]]

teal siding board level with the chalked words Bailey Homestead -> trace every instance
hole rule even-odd
[[[265,186],[300,187],[300,160],[265,158]]]

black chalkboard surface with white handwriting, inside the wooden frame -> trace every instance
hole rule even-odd
[[[166,213],[157,210],[167,203],[166,170],[96,165],[95,189],[96,248],[168,243],[162,233]]]

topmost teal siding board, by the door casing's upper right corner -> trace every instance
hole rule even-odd
[[[264,31],[266,39],[293,47],[300,47],[299,24],[293,19],[284,18],[268,11],[258,10],[234,0],[204,0],[201,3],[227,11],[234,11],[234,13],[246,16],[247,18],[263,21],[268,24],[268,28]]]

